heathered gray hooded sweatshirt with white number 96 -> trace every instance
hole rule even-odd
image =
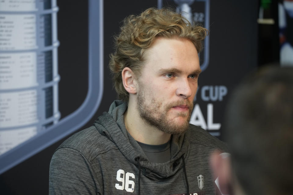
[[[93,126],[56,149],[49,194],[216,194],[209,156],[215,149],[225,152],[225,144],[190,125],[184,135],[172,136],[171,160],[152,163],[127,133],[126,108],[126,103],[114,101]]]

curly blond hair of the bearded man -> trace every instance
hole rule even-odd
[[[118,98],[128,102],[129,94],[122,82],[121,72],[129,67],[139,76],[143,66],[143,56],[157,37],[179,37],[193,42],[197,51],[202,49],[202,41],[208,30],[191,25],[187,19],[171,9],[149,8],[138,16],[130,15],[123,21],[121,32],[114,37],[115,52],[110,54],[109,67],[113,73],[113,83]]]

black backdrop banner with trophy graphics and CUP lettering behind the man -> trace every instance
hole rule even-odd
[[[258,1],[1,1],[1,194],[48,194],[54,150],[116,99],[108,63],[121,21],[150,7],[209,30],[190,123],[221,139],[229,95],[257,67]]]

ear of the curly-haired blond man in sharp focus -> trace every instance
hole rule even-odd
[[[136,80],[135,80],[135,75],[132,72],[132,70],[128,67],[125,67],[122,70],[122,81],[123,81],[123,86],[125,90],[129,94],[136,94],[137,93],[137,86],[136,86]]]

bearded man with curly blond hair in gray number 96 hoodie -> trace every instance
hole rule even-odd
[[[58,147],[51,194],[215,194],[209,155],[225,145],[189,124],[206,34],[167,9],[124,20],[110,60],[122,101]]]

